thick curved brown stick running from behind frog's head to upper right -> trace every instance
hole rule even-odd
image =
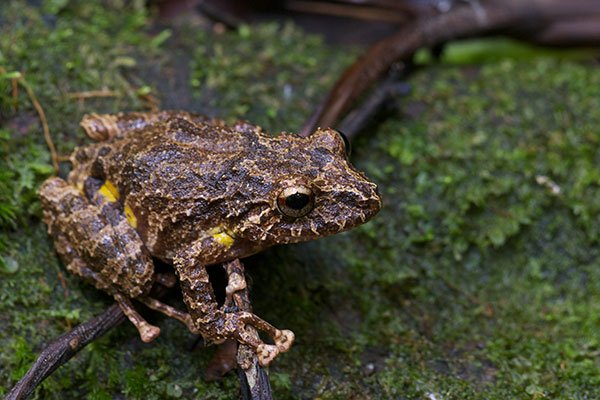
[[[515,35],[517,27],[528,25],[532,28],[519,33],[526,38],[539,40],[536,34],[541,34],[559,21],[597,16],[599,13],[600,2],[594,0],[491,0],[461,4],[447,13],[419,18],[376,43],[350,66],[299,134],[308,136],[318,126],[334,125],[357,96],[394,62],[409,60],[420,48],[434,47],[453,39],[495,33]],[[576,34],[582,32],[573,30],[571,36],[577,37]]]

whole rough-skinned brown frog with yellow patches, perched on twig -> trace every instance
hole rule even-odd
[[[245,344],[268,366],[289,350],[293,332],[220,307],[207,268],[346,231],[381,208],[376,184],[352,166],[334,129],[273,136],[186,111],[91,113],[80,126],[94,143],[73,151],[66,179],[40,186],[43,221],[66,268],[111,295],[144,342],[160,328],[132,300],[206,343]],[[174,274],[159,273],[155,260]],[[186,311],[151,295],[153,285],[176,280]],[[229,273],[228,298],[245,288],[243,276]]]

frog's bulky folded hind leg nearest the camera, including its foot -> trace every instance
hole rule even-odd
[[[92,204],[60,178],[45,181],[38,194],[44,222],[67,268],[112,295],[143,341],[156,338],[160,329],[148,324],[129,300],[149,292],[154,264],[117,203]]]

